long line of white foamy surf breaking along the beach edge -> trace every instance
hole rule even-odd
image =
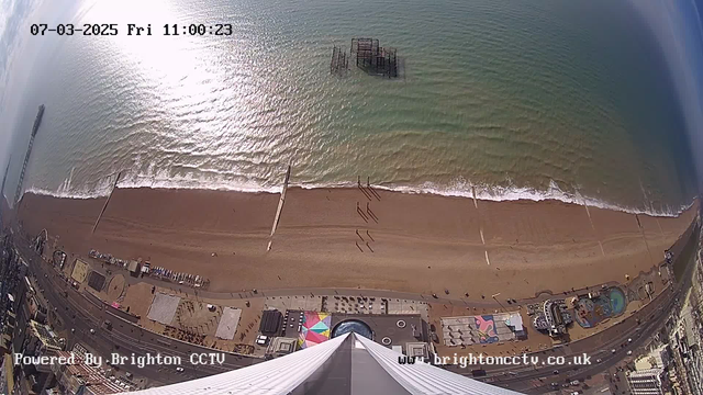
[[[282,176],[281,176],[282,182]],[[32,187],[26,190],[29,193],[49,195],[54,198],[64,199],[97,199],[104,198],[110,194],[112,183],[110,180],[105,180],[100,185],[92,188],[89,187],[72,187],[72,172],[62,185],[55,190],[47,190],[42,188]],[[356,188],[356,182],[337,182],[337,183],[290,183],[291,188],[298,187],[302,189],[324,189],[324,188]],[[694,201],[688,204],[683,204],[678,207],[663,207],[662,210],[645,210],[640,207],[629,207],[618,205],[603,200],[583,195],[579,191],[571,193],[562,191],[556,182],[551,181],[547,190],[538,190],[527,187],[498,187],[475,184],[464,180],[458,180],[451,185],[439,185],[433,182],[424,182],[419,185],[388,185],[388,184],[372,184],[373,188],[379,190],[394,191],[401,193],[411,194],[436,194],[443,196],[467,198],[477,199],[482,201],[547,201],[554,200],[563,203],[571,203],[578,205],[588,205],[590,207],[599,207],[605,210],[613,210],[625,212],[629,214],[647,214],[651,216],[660,217],[676,217],[682,212],[690,208]],[[147,171],[146,173],[127,176],[120,179],[118,183],[120,189],[137,189],[137,188],[150,188],[150,189],[174,189],[174,190],[214,190],[214,191],[233,191],[233,192],[248,192],[248,193],[279,193],[281,187],[264,187],[254,181],[233,182],[216,177],[192,177],[192,176],[171,176],[166,171]]]

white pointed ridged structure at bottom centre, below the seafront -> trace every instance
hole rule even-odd
[[[399,357],[352,332],[252,366],[135,394],[518,394],[428,363],[401,364]]]

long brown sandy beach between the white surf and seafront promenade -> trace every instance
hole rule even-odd
[[[698,210],[671,218],[557,201],[377,192],[380,200],[369,201],[358,189],[289,189],[270,251],[279,200],[271,193],[119,189],[94,235],[104,199],[27,193],[20,219],[32,234],[46,228],[49,245],[58,236],[57,247],[71,253],[148,259],[209,278],[211,291],[447,289],[480,300],[624,282],[660,262]]]

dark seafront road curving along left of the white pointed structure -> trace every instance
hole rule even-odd
[[[228,372],[238,368],[263,361],[261,359],[236,356],[220,350],[179,341],[166,336],[161,336],[141,328],[123,318],[105,311],[104,305],[100,305],[80,292],[71,287],[68,282],[62,279],[51,263],[45,262],[38,253],[29,248],[24,242],[14,244],[18,251],[30,264],[30,270],[34,274],[43,296],[48,301],[53,311],[64,329],[68,330],[68,348],[77,342],[88,346],[97,351],[103,359],[116,352],[121,356],[144,357],[161,354],[179,357],[180,366],[183,372],[177,372],[176,365],[146,365],[138,368],[127,363],[120,366],[120,370],[132,372],[135,376],[143,376],[155,384],[170,384],[181,381],[204,377],[212,374]],[[104,327],[103,323],[109,319],[112,329]],[[75,329],[75,334],[70,334]],[[93,329],[94,334],[90,330]],[[220,352],[225,356],[222,365],[192,365],[190,356],[196,353]],[[109,366],[103,366],[103,369]]]

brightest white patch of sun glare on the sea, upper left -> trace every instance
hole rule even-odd
[[[232,72],[246,69],[246,44],[230,36],[185,34],[192,12],[168,0],[98,1],[87,8],[81,23],[119,24],[118,35],[100,37],[101,52],[120,74],[131,76],[127,84],[136,87],[132,98],[137,105],[165,120],[152,126],[161,144],[182,146],[179,153],[226,153],[232,144],[222,145],[223,134],[242,137],[244,121],[258,105],[252,102],[252,77]],[[130,35],[127,24],[150,25],[152,35],[137,36],[135,30]],[[165,35],[166,24],[171,35]]]

